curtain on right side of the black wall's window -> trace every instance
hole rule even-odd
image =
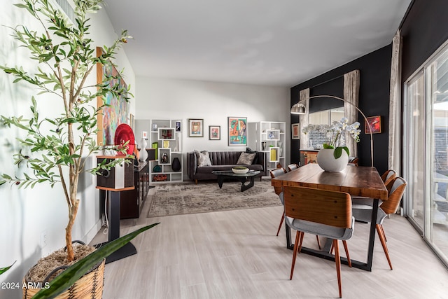
[[[355,69],[349,73],[344,74],[344,113],[345,117],[349,119],[349,123],[358,121],[358,106],[359,98],[359,69]],[[350,155],[358,157],[358,146],[351,137],[345,138],[345,144],[349,148]]]

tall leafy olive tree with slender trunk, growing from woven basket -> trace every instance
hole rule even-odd
[[[14,155],[15,164],[27,167],[31,174],[1,174],[0,185],[11,183],[19,188],[33,188],[36,183],[49,183],[50,186],[62,184],[63,195],[59,200],[65,200],[69,208],[69,221],[66,225],[66,262],[73,263],[77,258],[72,245],[72,228],[78,213],[78,181],[80,174],[88,172],[99,174],[103,169],[111,169],[116,165],[131,162],[132,156],[126,152],[127,144],[111,149],[121,153],[123,158],[104,159],[95,167],[88,168],[85,164],[89,155],[94,155],[103,146],[96,144],[97,116],[102,113],[103,104],[97,107],[97,97],[104,99],[106,95],[113,97],[126,97],[129,92],[118,85],[109,85],[114,78],[109,75],[101,83],[92,87],[87,86],[87,77],[90,76],[97,64],[111,64],[116,51],[127,42],[130,36],[123,31],[110,47],[97,57],[92,39],[89,38],[89,18],[87,13],[94,13],[101,7],[102,0],[74,0],[75,22],[71,24],[65,15],[51,6],[48,0],[21,0],[15,4],[25,9],[41,25],[41,31],[18,25],[10,28],[15,39],[22,46],[29,49],[31,60],[36,61],[38,70],[29,74],[22,67],[8,67],[1,65],[0,69],[13,76],[14,83],[26,81],[39,90],[39,95],[31,97],[31,113],[29,119],[22,116],[1,116],[0,122],[6,127],[17,127],[27,133],[25,139],[19,139],[22,148]],[[42,97],[41,94],[48,96]],[[39,114],[38,103],[45,100],[61,111],[57,118],[42,118]],[[51,102],[53,101],[53,102]],[[29,151],[28,151],[29,150]],[[150,225],[151,227],[153,225]],[[150,228],[150,226],[137,231],[137,234]],[[115,240],[111,246],[101,251],[91,253],[94,258],[84,258],[81,272],[86,270],[94,260],[101,260],[105,254],[110,254],[123,242],[130,238]],[[109,245],[109,244],[108,244]],[[103,256],[102,256],[103,255]],[[97,263],[97,261],[96,261]],[[87,269],[88,270],[88,269]],[[68,270],[66,270],[68,271]],[[79,265],[77,270],[79,272]],[[73,274],[73,273],[72,273]],[[82,275],[82,274],[81,274]],[[75,276],[78,276],[76,274]],[[60,279],[59,279],[60,280]],[[62,284],[66,281],[62,279]],[[59,282],[59,284],[61,284]],[[65,286],[64,286],[65,287]]]

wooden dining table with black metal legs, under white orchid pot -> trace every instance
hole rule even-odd
[[[377,223],[377,211],[379,200],[387,200],[388,193],[381,176],[375,167],[350,166],[342,172],[324,172],[316,163],[304,165],[291,172],[277,176],[271,181],[272,186],[302,186],[323,190],[335,190],[349,193],[351,196],[373,198],[372,220],[368,236],[367,261],[351,260],[351,265],[362,270],[372,271],[374,239]],[[286,246],[293,249],[291,244],[290,228],[286,226]],[[355,228],[356,231],[356,228]],[[328,260],[335,260],[330,253],[331,240],[327,240],[322,250],[302,247],[302,253],[311,254]],[[342,263],[347,264],[346,258],[341,258]]]

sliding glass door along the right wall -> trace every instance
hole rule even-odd
[[[448,265],[448,46],[405,92],[405,213]]]

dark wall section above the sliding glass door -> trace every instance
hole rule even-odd
[[[414,0],[401,25],[404,83],[448,39],[447,0]]]

